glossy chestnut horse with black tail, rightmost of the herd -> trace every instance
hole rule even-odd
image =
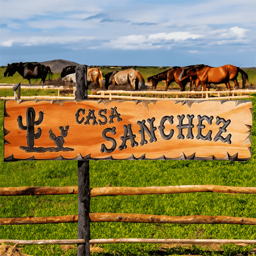
[[[193,68],[187,68],[183,70],[183,73],[180,75],[180,80],[182,80],[183,76],[196,76],[202,86],[203,90],[206,91],[207,84],[225,84],[229,91],[231,91],[231,87],[229,81],[233,81],[235,84],[235,89],[239,88],[239,83],[237,80],[238,73],[242,74],[242,88],[245,88],[246,80],[248,81],[248,75],[246,72],[239,67],[233,65],[224,65],[220,67],[211,67],[207,65],[197,65]]]

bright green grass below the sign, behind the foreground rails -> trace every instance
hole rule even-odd
[[[161,70],[159,70],[161,72]],[[104,72],[103,72],[104,73]],[[144,78],[147,77],[143,74]],[[2,79],[2,76],[0,76]],[[250,79],[250,78],[249,78]],[[1,80],[2,82],[2,80]],[[12,83],[16,83],[12,82]],[[253,110],[256,98],[252,98]],[[0,101],[3,113],[4,102]],[[252,158],[232,161],[90,161],[90,187],[224,185],[255,187],[256,113],[253,111]],[[0,117],[3,127],[3,115]],[[0,134],[3,159],[3,133]],[[0,161],[1,187],[77,186],[77,161]],[[0,197],[0,216],[43,217],[78,212],[77,195]],[[91,198],[91,212],[156,215],[228,215],[256,218],[255,194],[187,193]],[[0,226],[0,239],[76,239],[77,223]],[[256,239],[256,226],[230,224],[91,223],[91,239]],[[76,246],[19,246],[33,256],[76,255]],[[256,245],[168,246],[155,244],[95,245],[91,255],[249,255]],[[252,254],[251,254],[252,255]]]

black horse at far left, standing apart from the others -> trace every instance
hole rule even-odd
[[[45,66],[38,62],[17,62],[12,63],[7,66],[5,73],[3,76],[13,76],[16,72],[18,72],[23,79],[27,79],[31,84],[30,79],[38,79],[41,78],[40,83],[44,83],[46,80],[46,76],[49,73],[49,77],[52,74],[49,66]]]

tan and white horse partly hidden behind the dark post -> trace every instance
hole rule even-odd
[[[90,84],[91,83],[96,84],[97,87],[100,87],[102,89],[102,79],[103,79],[103,76],[100,69],[98,68],[87,69],[87,82],[89,82]],[[75,73],[64,76],[62,80],[69,81],[69,82],[76,82]]]

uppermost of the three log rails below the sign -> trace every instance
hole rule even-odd
[[[256,194],[256,187],[228,187],[216,185],[183,185],[166,187],[97,187],[91,189],[91,197],[140,195],[140,194],[176,194],[194,192],[214,192],[232,194]],[[78,186],[70,187],[2,187],[0,196],[57,195],[77,194]]]

